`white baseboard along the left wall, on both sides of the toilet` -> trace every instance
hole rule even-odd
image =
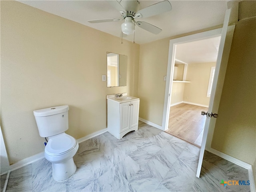
[[[88,139],[90,139],[90,138],[93,138],[93,137],[95,137],[95,136],[98,136],[98,135],[100,135],[100,134],[102,134],[102,133],[104,133],[104,132],[106,132],[106,131],[107,131],[107,128],[102,129],[102,130],[97,131],[97,132],[94,132],[94,133],[92,133],[92,134],[90,134],[90,135],[87,135],[87,136],[85,136],[85,137],[82,137],[82,138],[80,138],[80,139],[77,139],[77,142],[78,142],[78,143],[84,142],[84,141],[86,141],[86,140],[88,140]],[[38,153],[38,154],[36,154],[36,155],[33,155],[33,156],[28,157],[28,158],[26,158],[26,159],[20,160],[20,161],[18,161],[17,163],[14,163],[14,164],[10,165],[10,170],[11,170],[11,171],[14,171],[14,170],[16,170],[16,169],[22,168],[22,167],[24,167],[24,166],[26,166],[26,165],[28,165],[28,164],[31,164],[31,163],[36,162],[36,161],[38,161],[38,160],[41,160],[41,159],[43,159],[43,158],[44,158],[44,152]],[[3,173],[1,173],[1,175],[6,174],[7,172],[8,172],[8,171],[3,172]]]

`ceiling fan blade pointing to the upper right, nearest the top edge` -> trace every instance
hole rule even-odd
[[[159,3],[150,5],[142,10],[139,10],[134,18],[146,18],[154,15],[158,15],[167,11],[172,10],[172,5],[169,1],[161,1]]]

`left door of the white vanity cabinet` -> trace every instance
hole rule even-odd
[[[130,128],[130,110],[131,102],[125,102],[120,104],[120,133]]]

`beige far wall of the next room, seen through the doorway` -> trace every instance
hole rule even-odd
[[[215,62],[188,64],[183,101],[209,106],[210,97],[207,97],[211,67]],[[187,99],[188,97],[188,99]]]

